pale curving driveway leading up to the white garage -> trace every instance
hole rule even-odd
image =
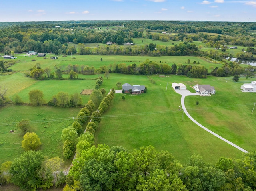
[[[192,118],[192,116],[190,116],[190,114],[188,113],[188,111],[186,110],[186,107],[185,107],[185,97],[186,96],[195,96],[195,95],[198,95],[198,93],[191,93],[189,90],[175,90],[178,94],[181,95],[181,106],[182,106],[182,109],[184,111],[184,113],[186,114],[186,116],[188,116],[188,118],[190,118],[190,120],[192,120],[195,124],[197,124],[198,126],[200,126],[201,128],[203,128],[204,130],[206,130],[207,132],[209,132],[210,134],[218,137],[219,139],[225,141],[226,143],[232,145],[233,147],[239,149],[240,151],[242,152],[245,152],[245,153],[248,153],[248,151],[244,150],[243,148],[241,148],[240,146],[237,146],[236,144],[230,142],[229,140],[226,140],[225,138],[223,138],[222,136],[212,132],[211,130],[209,130],[208,128],[206,128],[205,126],[203,126],[202,124],[198,123],[196,120],[194,120],[194,118]]]

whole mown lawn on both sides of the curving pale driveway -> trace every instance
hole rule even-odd
[[[116,94],[96,132],[96,143],[122,145],[129,150],[152,144],[159,150],[170,151],[182,162],[194,153],[202,155],[209,163],[215,163],[221,156],[239,158],[241,152],[236,148],[202,130],[186,116],[182,121],[182,111],[178,110],[180,95],[171,87],[172,82],[182,82],[190,91],[189,85],[214,85],[216,95],[186,97],[188,112],[224,138],[248,151],[254,150],[256,141],[252,138],[256,136],[256,113],[248,115],[252,111],[255,93],[241,94],[240,91],[242,83],[249,80],[244,78],[235,83],[232,77],[190,79],[175,75],[167,78],[154,75],[152,78],[156,84],[150,83],[146,77],[122,75],[122,83],[146,85],[148,92],[138,96],[125,95],[124,101],[122,94]],[[198,106],[196,100],[200,102]]]

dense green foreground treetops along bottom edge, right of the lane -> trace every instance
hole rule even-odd
[[[252,191],[256,188],[255,156],[252,152],[241,159],[221,157],[209,165],[192,155],[183,166],[169,152],[153,146],[132,152],[122,146],[92,146],[73,161],[64,191]]]

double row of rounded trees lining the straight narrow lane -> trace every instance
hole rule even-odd
[[[95,131],[98,128],[103,112],[105,112],[108,109],[108,106],[110,106],[113,96],[114,90],[103,98],[101,92],[95,89],[90,95],[90,98],[93,98],[99,106],[98,110],[93,111],[95,104],[92,100],[89,100],[85,107],[78,113],[76,121],[74,121],[72,126],[62,130],[61,138],[63,142],[63,156],[66,159],[69,159],[73,155],[75,149],[76,154],[79,156],[80,151],[85,148],[89,148],[94,144]],[[81,134],[82,126],[86,123],[89,116],[91,120],[86,126],[86,132]]]

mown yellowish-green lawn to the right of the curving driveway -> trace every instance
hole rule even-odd
[[[199,84],[214,86],[216,95],[188,96],[185,99],[188,112],[194,119],[249,152],[256,148],[256,111],[252,114],[256,93],[242,92],[240,87],[250,80],[240,78],[234,82],[232,77],[198,79]],[[198,106],[196,101],[199,101]]]

